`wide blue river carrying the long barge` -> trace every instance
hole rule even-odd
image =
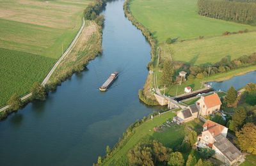
[[[124,17],[124,1],[103,12],[103,54],[50,93],[0,123],[0,165],[92,165],[136,119],[155,108],[138,99],[147,78],[150,45]],[[106,93],[98,87],[120,76]]]

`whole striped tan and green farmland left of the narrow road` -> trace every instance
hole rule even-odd
[[[44,79],[62,45],[65,51],[76,36],[90,2],[0,0],[0,106]]]

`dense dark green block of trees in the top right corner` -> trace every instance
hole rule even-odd
[[[198,13],[215,19],[251,24],[256,20],[256,4],[236,1],[198,0]]]

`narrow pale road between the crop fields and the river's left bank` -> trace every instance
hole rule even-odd
[[[42,86],[45,86],[45,84],[47,84],[48,80],[51,78],[52,73],[54,73],[54,71],[56,70],[58,65],[61,63],[61,61],[68,55],[68,53],[72,49],[73,45],[76,43],[77,39],[79,38],[81,32],[83,31],[84,26],[85,26],[85,20],[84,20],[84,17],[83,17],[83,24],[80,27],[78,33],[76,34],[76,37],[74,38],[72,43],[69,45],[68,49],[64,52],[64,54],[60,57],[60,59],[54,64],[54,66],[52,67],[51,71],[47,74],[47,76],[45,77],[45,79],[43,80],[43,82],[41,84]],[[26,94],[25,96],[22,96],[22,98],[20,98],[20,100],[24,101],[24,100],[28,99],[31,96],[32,96],[32,93]],[[0,112],[8,109],[9,107],[10,107],[10,105],[6,105],[6,106],[2,107],[0,109]]]

